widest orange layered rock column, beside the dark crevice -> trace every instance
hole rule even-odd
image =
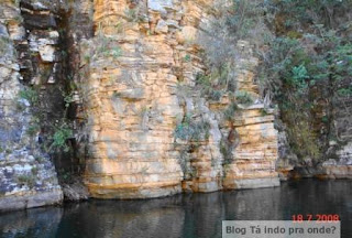
[[[183,112],[173,72],[175,6],[97,0],[94,8],[96,36],[81,44],[80,85],[90,131],[89,192],[99,198],[179,193],[183,173],[173,151]]]

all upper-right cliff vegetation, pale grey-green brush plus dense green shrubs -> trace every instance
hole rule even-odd
[[[338,101],[352,96],[352,1],[226,2],[213,10],[217,20],[200,42],[209,66],[197,78],[204,94],[217,87],[235,91],[235,63],[243,53],[234,46],[250,41],[261,60],[255,80],[262,95],[278,105],[290,145],[299,158],[323,159],[329,138],[337,138]],[[239,104],[250,104],[246,95],[237,94]],[[233,118],[232,109],[226,118]]]

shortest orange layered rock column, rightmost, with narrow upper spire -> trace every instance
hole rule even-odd
[[[278,186],[275,172],[277,160],[277,131],[274,128],[274,110],[264,109],[258,99],[258,89],[253,82],[257,58],[253,57],[248,42],[240,41],[242,56],[238,62],[238,90],[248,91],[255,104],[239,105],[241,112],[234,120],[239,144],[233,150],[232,161],[224,165],[224,188],[255,188]]]

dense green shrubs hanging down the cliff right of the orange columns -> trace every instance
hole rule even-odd
[[[336,137],[334,108],[349,97],[351,1],[267,1],[276,37],[262,52],[262,87],[279,105],[288,139],[299,158],[323,159]],[[350,13],[349,13],[350,12]]]

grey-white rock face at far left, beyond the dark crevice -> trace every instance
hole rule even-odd
[[[58,33],[26,32],[15,2],[0,3],[0,210],[37,207],[63,199],[55,167],[38,143],[38,130],[34,127],[37,119],[30,109],[37,96],[26,90],[23,84],[26,79],[20,74],[32,62],[20,62],[29,52],[18,51],[33,47],[32,52],[40,54],[43,62],[53,62]]]

